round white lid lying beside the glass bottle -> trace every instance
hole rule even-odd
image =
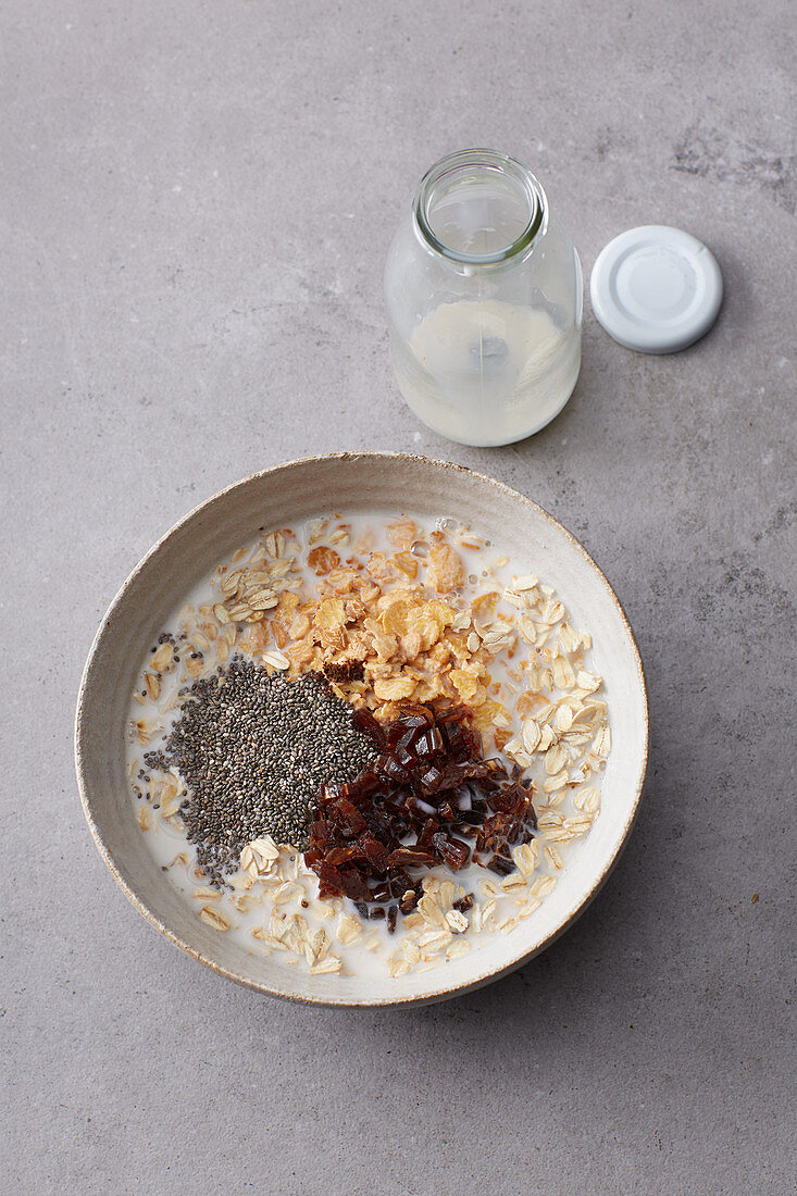
[[[714,255],[680,228],[643,225],[620,233],[592,268],[596,318],[638,353],[677,353],[717,319],[723,276]]]

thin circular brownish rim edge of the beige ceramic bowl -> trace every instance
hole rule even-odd
[[[95,822],[95,817],[91,808],[91,795],[89,792],[89,782],[85,775],[84,762],[83,762],[83,707],[86,696],[87,684],[92,672],[92,665],[97,654],[97,648],[101,641],[104,639],[108,630],[108,626],[112,620],[114,615],[116,614],[116,610],[121,604],[128,588],[130,587],[135,578],[138,578],[138,575],[141,573],[141,570],[147,567],[150,560],[159,551],[162,545],[175,532],[177,532],[181,527],[183,527],[187,523],[189,523],[200,511],[203,511],[206,507],[211,506],[211,504],[217,502],[219,499],[230,494],[232,490],[236,490],[239,487],[248,486],[256,478],[266,477],[269,474],[276,474],[281,470],[290,469],[293,465],[310,465],[314,463],[322,463],[322,462],[346,463],[351,460],[359,460],[361,458],[367,458],[371,460],[390,459],[390,460],[415,462],[420,463],[424,466],[432,466],[436,469],[451,470],[452,472],[456,474],[470,475],[477,478],[480,482],[483,482],[487,486],[492,486],[504,492],[504,494],[507,495],[509,498],[519,501],[527,508],[534,511],[539,515],[542,515],[542,518],[552,527],[554,527],[556,532],[564,536],[565,539],[573,548],[578,550],[580,556],[584,559],[585,563],[592,568],[598,581],[606,590],[607,596],[614,603],[617,615],[620,616],[620,621],[625,628],[631,648],[633,651],[637,681],[639,684],[639,696],[641,697],[641,715],[643,715],[643,728],[644,728],[641,762],[634,785],[633,800],[628,806],[625,823],[621,829],[621,838],[619,841],[619,846],[614,852],[612,859],[608,860],[607,864],[604,865],[600,875],[595,880],[592,887],[585,896],[579,897],[577,904],[570,909],[570,911],[567,913],[560,926],[556,928],[556,930],[549,934],[541,942],[537,942],[529,950],[521,952],[519,956],[511,958],[504,966],[497,970],[488,969],[486,972],[475,976],[473,980],[468,981],[464,984],[454,984],[454,986],[443,984],[414,996],[397,995],[395,1000],[385,997],[369,999],[367,996],[364,996],[363,999],[352,1000],[351,997],[345,997],[342,995],[341,999],[337,1000],[335,997],[330,999],[327,996],[316,997],[316,996],[305,996],[297,993],[285,993],[281,991],[279,988],[272,987],[270,984],[266,984],[258,981],[250,980],[247,976],[242,976],[239,972],[236,972],[230,968],[225,968],[223,964],[218,963],[218,960],[211,958],[209,956],[206,956],[201,951],[197,951],[196,947],[193,947],[189,942],[182,939],[180,934],[177,934],[175,930],[172,930],[170,927],[165,926],[160,921],[160,919],[146,905],[146,903],[138,896],[138,893],[134,892],[134,890],[130,887],[130,885],[127,883],[127,880],[122,877],[121,872],[118,871],[114,856],[102,836],[99,826]],[[540,954],[542,951],[552,946],[552,944],[554,944],[556,939],[560,938],[560,935],[562,935],[567,929],[570,929],[570,927],[577,921],[577,919],[580,917],[580,915],[586,910],[586,908],[598,895],[598,892],[608,880],[609,875],[612,874],[614,867],[616,866],[617,860],[620,859],[628,842],[637,814],[639,812],[643,786],[647,771],[649,750],[650,750],[650,708],[647,700],[647,685],[645,682],[645,672],[643,669],[639,647],[637,645],[637,640],[631,628],[628,616],[626,615],[622,604],[617,598],[612,584],[609,582],[608,578],[600,568],[600,566],[596,565],[596,562],[592,560],[592,557],[586,551],[584,545],[576,538],[576,536],[573,536],[572,532],[570,532],[561,523],[559,523],[559,520],[555,519],[554,515],[552,515],[548,511],[546,511],[544,507],[540,506],[539,502],[535,502],[534,499],[528,498],[528,495],[522,494],[519,490],[516,490],[513,487],[507,486],[505,482],[500,482],[487,474],[482,474],[479,470],[470,469],[470,466],[462,465],[457,462],[443,460],[440,458],[434,458],[434,457],[426,457],[422,453],[407,453],[407,452],[387,451],[387,450],[385,451],[352,450],[352,451],[339,451],[329,453],[315,453],[308,457],[297,457],[292,460],[280,462],[276,465],[269,465],[267,469],[256,470],[254,474],[249,474],[245,477],[238,478],[236,482],[232,482],[230,486],[225,486],[223,489],[217,490],[214,494],[209,495],[209,498],[202,500],[202,502],[199,502],[196,506],[191,507],[190,511],[188,511],[184,515],[182,515],[182,518],[180,518],[176,523],[174,523],[163,533],[163,536],[160,536],[154,542],[154,544],[152,544],[152,547],[147,550],[147,553],[140,559],[138,565],[135,565],[135,567],[130,570],[130,573],[128,574],[128,576],[126,578],[126,580],[122,582],[118,591],[114,596],[112,600],[110,602],[102,618],[102,622],[97,629],[97,633],[92,640],[91,648],[89,649],[89,655],[86,658],[86,663],[83,669],[83,675],[80,678],[80,688],[78,690],[75,718],[74,718],[74,762],[75,762],[75,771],[78,779],[78,789],[80,793],[80,803],[83,806],[83,812],[85,814],[86,822],[89,823],[91,836],[97,846],[97,850],[99,852],[105,866],[108,867],[109,872],[116,880],[117,885],[120,886],[124,896],[128,898],[128,901],[130,901],[132,904],[138,909],[138,911],[147,920],[147,922],[154,926],[156,929],[158,929],[166,939],[170,939],[182,951],[191,956],[193,959],[197,960],[201,964],[205,964],[217,975],[223,976],[226,980],[235,981],[236,983],[243,984],[245,988],[253,989],[256,993],[261,993],[267,996],[275,996],[284,1001],[296,1001],[300,1005],[334,1007],[334,1008],[377,1008],[377,1009],[402,1008],[402,1007],[408,1008],[412,1006],[428,1005],[436,1001],[449,1000],[455,996],[463,996],[466,993],[471,993],[475,989],[482,988],[485,984],[491,984],[493,983],[493,981],[498,981],[501,977],[510,975],[510,972],[513,972],[518,968],[522,968],[524,964],[534,959],[535,956]]]

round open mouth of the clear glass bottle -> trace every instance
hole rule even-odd
[[[432,249],[455,262],[487,266],[528,249],[546,197],[534,175],[506,154],[464,150],[421,179],[415,220]]]

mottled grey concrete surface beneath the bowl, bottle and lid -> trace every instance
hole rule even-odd
[[[2,1179],[12,1192],[786,1192],[793,968],[795,10],[4,0]],[[388,373],[420,172],[525,159],[589,271],[680,225],[714,331],[588,313],[543,433],[466,450]],[[404,1013],[294,1008],[151,930],[72,765],[128,570],[219,487],[416,450],[533,495],[635,628],[652,751],[610,884],[523,971]]]

